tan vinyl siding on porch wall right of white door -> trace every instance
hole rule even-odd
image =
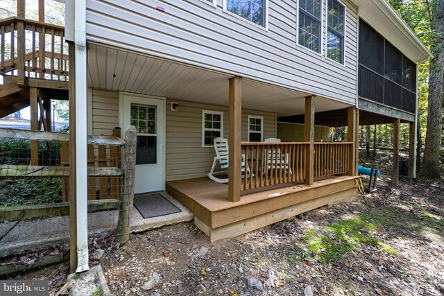
[[[179,111],[167,100],[167,181],[205,177],[215,156],[213,147],[202,147],[202,110],[223,112],[223,137],[228,137],[228,107],[175,101]],[[264,117],[264,139],[275,137],[275,114],[242,110],[242,141],[247,139],[248,115]]]

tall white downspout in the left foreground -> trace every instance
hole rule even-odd
[[[77,269],[88,270],[87,223],[87,47],[86,0],[74,1],[74,46],[76,56],[76,200],[77,200]]]

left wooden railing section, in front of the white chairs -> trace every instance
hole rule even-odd
[[[244,170],[241,190],[296,182],[305,178],[307,142],[242,142],[242,154],[248,169]]]

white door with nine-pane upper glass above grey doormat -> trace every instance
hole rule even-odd
[[[165,99],[121,94],[121,123],[137,130],[134,193],[164,190]]]

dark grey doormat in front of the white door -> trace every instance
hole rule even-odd
[[[135,195],[134,206],[145,219],[165,216],[181,211],[160,193]]]

